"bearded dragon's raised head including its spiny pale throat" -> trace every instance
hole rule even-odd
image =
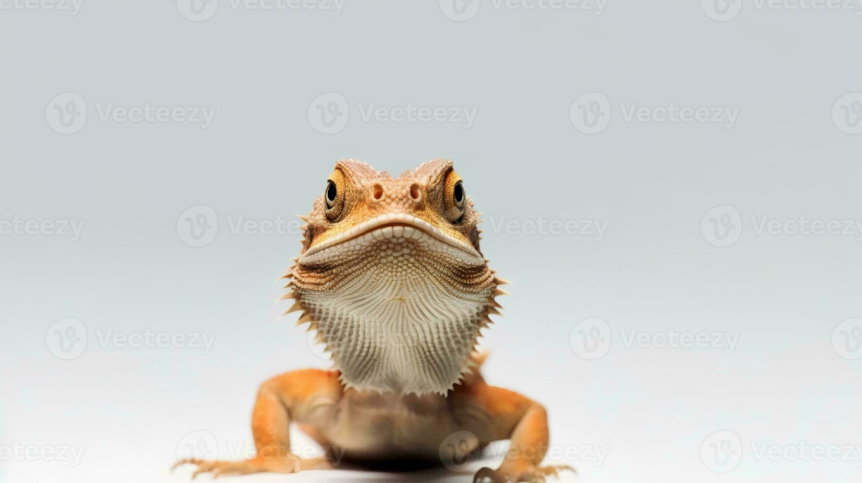
[[[392,178],[340,160],[322,185],[284,276],[290,311],[303,311],[347,387],[446,394],[507,283],[479,251],[479,214],[452,161]]]

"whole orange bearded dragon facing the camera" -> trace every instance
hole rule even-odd
[[[282,279],[332,354],[333,370],[304,369],[265,381],[252,415],[257,455],[190,459],[193,474],[296,473],[333,467],[331,454],[290,454],[290,423],[353,461],[440,463],[447,446],[471,454],[511,440],[489,479],[541,482],[547,413],[537,402],[485,383],[474,349],[499,314],[507,282],[479,250],[479,214],[451,160],[398,178],[340,160],[303,226],[302,253]],[[454,439],[453,439],[454,438]],[[573,470],[572,470],[573,471]]]

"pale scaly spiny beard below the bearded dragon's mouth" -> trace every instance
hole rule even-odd
[[[484,260],[428,237],[336,245],[292,275],[303,319],[357,390],[446,394],[497,313]]]

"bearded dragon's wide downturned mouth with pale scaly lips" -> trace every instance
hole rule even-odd
[[[300,263],[303,261],[313,261],[319,258],[319,256],[315,255],[339,245],[363,242],[372,243],[393,238],[414,240],[415,242],[424,241],[434,244],[442,242],[451,248],[457,249],[460,252],[460,256],[465,259],[471,259],[471,261],[478,259],[484,262],[482,255],[472,245],[462,242],[452,235],[448,235],[422,218],[407,213],[387,213],[359,223],[344,233],[340,233],[329,240],[314,245],[300,257]]]

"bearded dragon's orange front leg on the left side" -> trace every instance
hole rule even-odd
[[[205,461],[194,458],[178,461],[197,465],[191,475],[297,473],[331,467],[326,458],[302,459],[290,453],[290,422],[316,426],[334,423],[336,403],[342,394],[338,373],[305,369],[284,373],[260,386],[252,413],[252,433],[256,455],[241,461]]]

